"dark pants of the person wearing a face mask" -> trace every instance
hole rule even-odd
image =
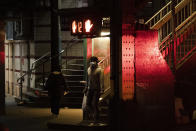
[[[87,112],[89,117],[93,117],[93,120],[97,121],[99,119],[99,108],[98,102],[100,97],[99,90],[88,90],[87,93]]]

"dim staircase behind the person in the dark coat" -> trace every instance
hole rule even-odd
[[[72,43],[71,43],[72,42]],[[72,39],[67,43],[65,50],[67,52],[68,48],[70,48],[74,43],[80,43],[81,40]],[[71,43],[71,44],[69,44]],[[64,50],[59,52],[59,55],[63,53]],[[67,55],[67,53],[66,53]],[[22,94],[22,101],[21,96],[15,98],[18,104],[24,103],[27,106],[36,106],[36,107],[48,107],[49,98],[48,98],[48,91],[45,90],[45,84],[48,79],[49,75],[49,67],[47,65],[50,64],[50,53],[44,54],[39,59],[35,60],[32,64],[31,70],[25,74],[19,81],[26,76],[27,74],[31,74],[35,69],[41,70],[42,75],[35,80],[35,88],[30,88],[28,91],[20,93]],[[45,66],[44,66],[45,65]],[[71,107],[71,108],[81,108],[82,99],[83,99],[83,89],[84,85],[80,83],[80,81],[84,80],[84,60],[83,57],[71,58],[66,59],[66,62],[62,64],[62,73],[66,79],[66,83],[70,92],[65,95],[64,99],[62,100],[63,107]],[[46,69],[48,72],[46,72]],[[19,82],[18,81],[18,82]]]

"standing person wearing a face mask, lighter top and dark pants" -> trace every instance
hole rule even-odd
[[[96,123],[99,119],[99,97],[104,92],[103,72],[102,69],[98,67],[97,57],[92,56],[90,58],[90,66],[87,73],[86,110],[88,112],[89,119],[93,119],[93,121]]]

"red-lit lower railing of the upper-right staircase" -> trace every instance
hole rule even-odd
[[[196,50],[196,43],[193,42],[191,36],[196,34],[196,11],[182,22],[176,29],[175,38],[172,38],[172,34],[168,35],[160,44],[160,51],[167,61],[171,60],[171,53],[175,50],[174,59],[175,67],[178,69],[190,56],[190,54]],[[187,43],[187,41],[190,41]],[[168,62],[169,63],[169,62]]]

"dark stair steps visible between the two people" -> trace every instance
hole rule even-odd
[[[62,69],[65,76],[67,87],[70,93],[65,95],[63,105],[70,108],[81,108],[83,99],[83,89],[85,85],[80,81],[85,80],[84,76],[84,60],[72,59],[68,61],[65,68]]]

